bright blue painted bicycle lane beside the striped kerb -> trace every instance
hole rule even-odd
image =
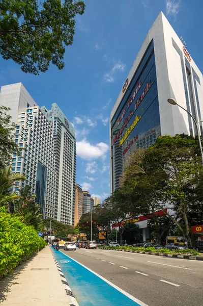
[[[102,276],[99,277],[97,273],[63,252],[53,249],[52,251],[79,306],[147,306],[127,292],[122,293],[122,289],[105,281]]]

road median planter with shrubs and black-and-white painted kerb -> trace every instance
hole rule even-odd
[[[113,248],[113,247],[100,247],[98,248],[106,249],[106,250],[114,250],[114,251],[122,251],[122,252],[131,252],[131,253],[139,253],[139,254],[146,254],[146,255],[154,255],[154,256],[162,256],[162,257],[170,257],[170,258],[178,258],[178,259],[188,259],[188,260],[200,260],[203,261],[203,256],[200,256],[200,254],[194,250],[190,250],[190,252],[193,252],[193,254],[189,253],[188,254],[180,254],[180,253],[175,253],[171,252],[166,249],[167,253],[164,252],[157,252],[156,249],[153,249],[153,251],[143,251],[143,250],[138,250],[138,249],[129,249],[129,248]],[[142,248],[143,249],[143,248]],[[175,250],[174,250],[175,251]]]

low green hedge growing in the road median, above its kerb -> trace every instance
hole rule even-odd
[[[155,249],[154,247],[129,247],[129,246],[100,246],[97,247],[100,248],[110,248],[110,249],[124,249],[124,250],[134,250],[134,251],[140,251],[140,252],[153,252],[153,253],[166,253],[166,254],[189,254],[192,256],[198,256],[199,252],[196,252],[192,249],[182,249],[182,250],[169,250],[167,248],[162,249]]]

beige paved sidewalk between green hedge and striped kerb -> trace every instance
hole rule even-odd
[[[70,302],[49,246],[0,281],[1,305],[64,306]]]

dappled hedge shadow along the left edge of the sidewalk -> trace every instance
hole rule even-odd
[[[22,262],[19,266],[17,266],[13,273],[9,273],[0,279],[0,304],[3,303],[7,299],[7,293],[11,291],[12,285],[18,285],[19,275],[23,270],[26,269],[28,263],[32,262],[37,253],[31,256],[25,262]]]

